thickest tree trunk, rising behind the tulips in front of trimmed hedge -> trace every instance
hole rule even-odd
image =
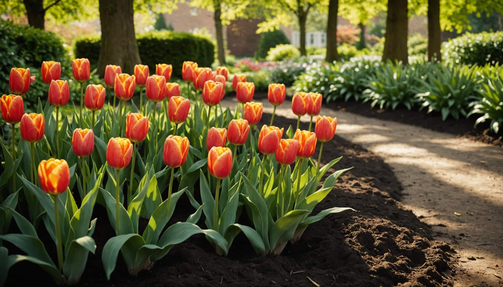
[[[140,64],[138,43],[134,34],[133,0],[99,0],[101,48],[98,61],[100,77],[109,64],[120,65],[122,72],[133,73]]]

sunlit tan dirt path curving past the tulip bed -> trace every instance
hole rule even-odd
[[[264,112],[272,113],[267,100],[263,103]],[[222,101],[222,107],[236,104]],[[276,113],[296,118],[290,102]],[[454,286],[503,285],[503,149],[327,108],[320,115],[337,117],[339,136],[394,169],[404,186],[402,203],[432,226],[436,240],[456,250]]]

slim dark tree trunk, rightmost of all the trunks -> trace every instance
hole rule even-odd
[[[428,0],[428,60],[441,60],[440,0]]]

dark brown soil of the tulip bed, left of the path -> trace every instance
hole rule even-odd
[[[264,114],[263,122],[269,120],[270,115]],[[275,124],[287,127],[296,122],[277,116]],[[301,125],[307,129],[306,124]],[[349,206],[358,212],[329,215],[310,225],[300,241],[287,245],[281,255],[256,256],[240,234],[229,256],[222,257],[215,254],[204,236],[196,235],[175,246],[152,269],[138,276],[128,275],[119,255],[117,267],[107,281],[101,252],[115,232],[105,209],[96,205],[97,252],[89,255],[80,285],[314,286],[312,279],[321,286],[451,286],[452,279],[446,275],[450,274],[454,260],[447,253],[452,252],[450,247],[431,240],[430,228],[411,211],[403,209],[398,201],[402,186],[391,168],[380,157],[336,135],[325,145],[323,158],[326,160],[323,161],[341,155],[344,158],[336,164],[337,169],[355,168],[339,179],[314,213],[334,206]],[[196,199],[199,199],[197,191]],[[187,197],[183,196],[171,223],[184,221],[193,212]],[[140,230],[146,223],[146,220],[140,221]],[[204,215],[199,224],[204,226]],[[39,229],[43,229],[43,225]],[[48,247],[54,255],[55,248]],[[6,285],[51,281],[39,267],[19,263],[9,272]]]

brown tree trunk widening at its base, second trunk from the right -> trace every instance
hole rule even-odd
[[[388,0],[388,15],[386,17],[386,40],[382,61],[388,59],[407,64],[407,0]]]

